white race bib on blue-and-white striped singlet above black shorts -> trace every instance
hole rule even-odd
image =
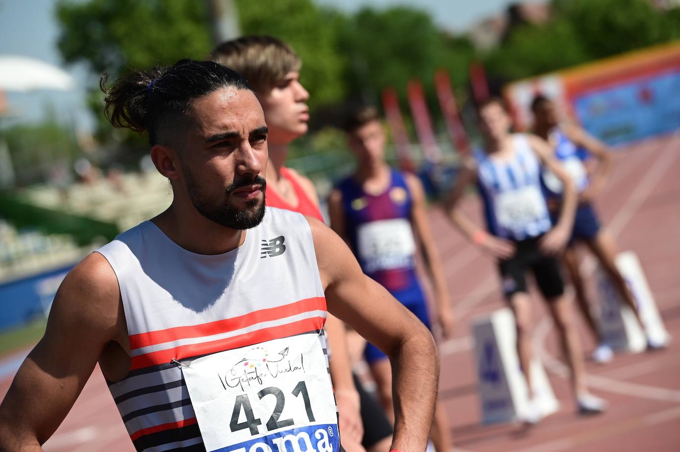
[[[496,220],[505,229],[521,231],[546,216],[545,199],[535,186],[500,193],[496,198]]]

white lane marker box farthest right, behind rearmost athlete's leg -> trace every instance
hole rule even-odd
[[[635,298],[649,336],[658,343],[666,343],[670,336],[659,315],[637,255],[633,251],[624,251],[616,256],[615,262]],[[597,286],[602,338],[615,350],[632,353],[645,351],[647,348],[645,332],[640,328],[628,305],[624,305],[602,268],[598,268],[597,271]]]

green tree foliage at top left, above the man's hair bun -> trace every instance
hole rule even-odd
[[[58,48],[96,74],[204,58],[211,48],[205,4],[191,0],[60,0]]]

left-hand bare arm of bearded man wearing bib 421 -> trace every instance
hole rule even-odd
[[[124,330],[118,281],[101,254],[67,275],[45,335],[0,404],[0,451],[41,451],[78,398],[109,341]]]

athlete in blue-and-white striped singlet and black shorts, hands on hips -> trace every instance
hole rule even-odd
[[[517,355],[527,379],[530,402],[522,416],[535,423],[542,413],[533,400],[531,379],[530,296],[525,273],[532,271],[566,352],[572,386],[580,413],[599,413],[605,403],[585,386],[583,355],[578,332],[571,321],[571,307],[564,296],[558,262],[554,256],[566,245],[576,208],[571,180],[545,141],[534,135],[511,134],[510,117],[503,101],[490,99],[479,107],[479,126],[484,149],[464,162],[456,185],[447,199],[449,215],[463,234],[498,260],[503,294],[517,324]],[[564,203],[553,226],[541,191],[545,165],[565,186]],[[479,228],[458,207],[469,184],[476,184],[483,201],[488,232]]]

